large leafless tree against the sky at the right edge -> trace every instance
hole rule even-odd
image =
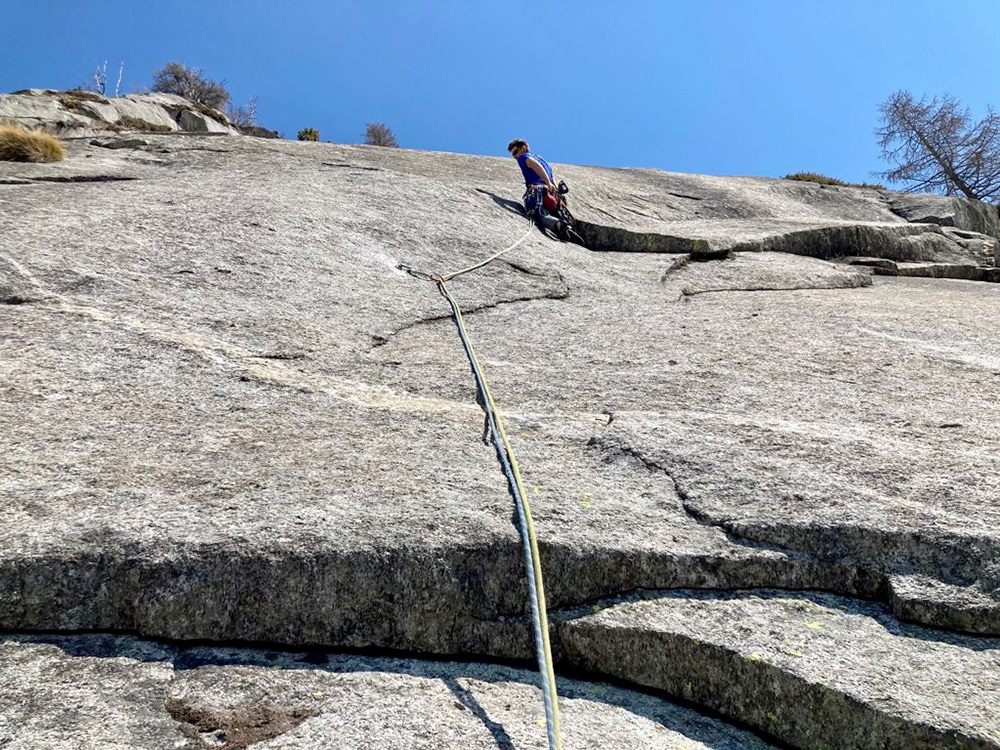
[[[897,91],[879,105],[875,134],[892,169],[878,175],[913,192],[1000,200],[1000,117],[992,108],[973,122],[947,94],[917,101]]]

